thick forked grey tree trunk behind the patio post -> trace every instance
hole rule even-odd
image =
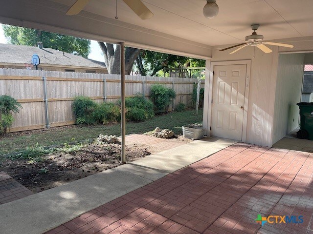
[[[98,41],[98,44],[103,52],[104,62],[107,65],[107,69],[109,74],[120,74],[120,53],[121,47],[120,45],[113,45],[111,43],[105,43]],[[130,75],[134,60],[140,54],[142,50],[132,48],[132,47],[125,47],[125,73],[126,75]]]

